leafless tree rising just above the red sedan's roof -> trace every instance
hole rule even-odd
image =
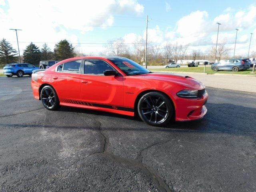
[[[108,40],[108,44],[106,44],[106,48],[108,52],[115,56],[120,56],[122,54],[127,54],[129,51],[128,46],[124,43],[123,38],[117,38]]]

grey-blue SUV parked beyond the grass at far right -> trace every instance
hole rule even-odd
[[[241,71],[250,68],[250,62],[247,59],[226,59],[220,60],[218,63],[214,63],[211,69],[214,71],[228,70],[228,71]]]

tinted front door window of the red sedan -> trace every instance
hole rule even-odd
[[[105,70],[114,70],[108,63],[102,60],[85,60],[84,74],[104,75]]]

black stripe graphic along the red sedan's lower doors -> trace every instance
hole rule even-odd
[[[65,102],[65,103],[78,104],[78,105],[86,105],[86,106],[94,106],[94,107],[101,107],[101,108],[108,108],[108,109],[114,109],[114,110],[122,110],[122,111],[134,112],[134,108],[129,108],[129,107],[122,107],[122,106],[115,106],[115,105],[106,105],[106,104],[99,104],[99,103],[90,103],[90,102],[71,100],[71,99],[64,99],[64,98],[60,99],[60,101],[61,102]]]

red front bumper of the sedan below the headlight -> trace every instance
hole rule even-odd
[[[207,99],[207,92],[197,99],[179,98],[176,101],[176,121],[192,121],[203,118],[207,112],[205,106]]]

